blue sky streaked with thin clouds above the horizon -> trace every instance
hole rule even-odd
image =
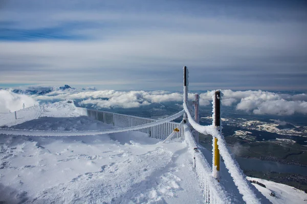
[[[0,1],[0,87],[306,90],[304,1]]]

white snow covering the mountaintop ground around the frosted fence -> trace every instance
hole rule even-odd
[[[14,113],[0,114],[0,126],[57,131],[114,128],[80,116],[75,107],[65,101],[45,105],[45,112],[41,106],[20,110],[17,120]],[[224,170],[221,180],[229,180],[223,163],[221,168]],[[266,180],[259,182],[267,188],[255,186],[273,203],[305,203],[307,200],[307,194],[293,187]],[[271,192],[276,196],[270,196]],[[140,132],[74,137],[0,134],[0,203],[2,201],[205,203],[186,143],[165,144]]]

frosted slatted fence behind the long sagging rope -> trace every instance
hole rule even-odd
[[[80,107],[76,107],[76,109],[80,115],[85,115],[107,124],[113,124],[117,127],[133,127],[158,121],[155,119],[111,113],[106,111],[98,111]],[[179,122],[164,122],[162,124],[141,128],[135,131],[147,133],[150,137],[161,140],[165,140],[171,133],[173,133],[173,136],[170,139],[184,138],[184,129],[182,126],[178,128],[179,132],[173,132],[174,129],[179,126],[179,124]]]

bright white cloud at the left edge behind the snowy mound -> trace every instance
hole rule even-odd
[[[9,90],[0,90],[0,113],[8,113],[9,111],[18,111],[23,108],[38,105],[38,102],[24,94],[16,94]]]

